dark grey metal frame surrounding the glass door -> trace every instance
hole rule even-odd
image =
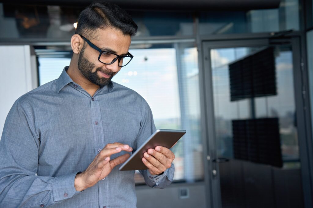
[[[305,92],[308,91],[307,70],[301,51],[300,35],[297,33],[286,36],[275,36],[273,34],[261,34],[258,36],[232,36],[223,35],[216,39],[216,36],[199,37],[199,85],[200,101],[202,113],[202,137],[204,145],[204,170],[207,191],[208,207],[221,208],[221,192],[218,165],[216,165],[217,174],[213,176],[212,158],[216,158],[216,140],[215,140],[215,118],[213,106],[213,84],[210,49],[228,48],[228,47],[252,47],[252,46],[271,46],[288,44],[293,51],[294,67],[294,89],[295,89],[295,106],[298,130],[298,142],[301,162],[301,177],[305,207],[313,207],[312,202],[312,173],[313,173],[313,153],[312,153],[312,131],[310,127],[310,105]],[[302,53],[301,53],[302,52]],[[306,90],[306,91],[305,91]],[[308,93],[306,93],[308,94]]]

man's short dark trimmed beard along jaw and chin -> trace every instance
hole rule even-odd
[[[117,72],[114,73],[110,70],[102,70],[101,67],[96,68],[95,72],[91,72],[95,68],[95,64],[93,64],[92,62],[90,62],[84,57],[84,51],[85,51],[85,46],[83,47],[78,57],[78,69],[86,77],[86,79],[89,80],[91,83],[98,85],[100,87],[104,87],[111,81],[112,77]],[[98,71],[101,71],[107,75],[110,75],[110,78],[99,77],[97,73]]]

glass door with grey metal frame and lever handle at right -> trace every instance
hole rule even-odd
[[[203,46],[213,207],[304,207],[291,44]]]

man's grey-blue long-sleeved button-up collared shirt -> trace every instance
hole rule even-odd
[[[67,69],[18,98],[8,114],[0,141],[0,207],[136,207],[135,171],[119,165],[84,191],[75,190],[74,178],[107,143],[140,147],[156,130],[151,109],[114,82],[91,97]],[[140,172],[148,186],[164,188],[174,166],[160,177]]]

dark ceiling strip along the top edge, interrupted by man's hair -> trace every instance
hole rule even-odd
[[[251,10],[278,8],[280,0],[107,0],[124,9]],[[91,0],[0,0],[9,4],[87,6]]]

